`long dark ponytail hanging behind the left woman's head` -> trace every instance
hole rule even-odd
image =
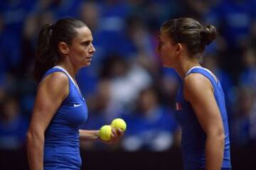
[[[33,74],[37,82],[41,81],[43,74],[58,62],[58,55],[55,54],[51,37],[54,25],[46,23],[38,35],[36,62]]]

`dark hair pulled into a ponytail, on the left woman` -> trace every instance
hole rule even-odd
[[[86,26],[75,18],[63,18],[54,23],[46,23],[38,35],[36,62],[33,74],[39,82],[48,69],[57,64],[62,58],[59,54],[59,42],[71,45],[77,35],[75,28]],[[87,27],[87,26],[86,26]]]

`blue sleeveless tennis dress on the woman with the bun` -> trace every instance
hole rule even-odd
[[[228,117],[225,108],[225,97],[220,81],[215,81],[213,75],[210,74],[210,71],[203,67],[191,68],[186,76],[191,73],[202,74],[204,77],[210,80],[210,83],[213,86],[215,100],[218,104],[218,108],[220,109],[225,131],[225,147],[222,168],[231,169]],[[204,168],[206,166],[206,133],[201,128],[191,104],[183,98],[183,84],[181,84],[180,88],[178,89],[176,96],[175,117],[182,129],[181,147],[183,154],[183,169],[196,170]]]

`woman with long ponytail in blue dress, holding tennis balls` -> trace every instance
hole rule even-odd
[[[38,36],[34,76],[38,91],[27,132],[31,170],[80,169],[80,140],[99,140],[99,130],[80,130],[87,120],[75,75],[91,64],[92,33],[82,21],[63,18],[46,24]],[[112,130],[109,143],[123,135]]]

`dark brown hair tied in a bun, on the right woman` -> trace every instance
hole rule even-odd
[[[184,43],[190,55],[196,55],[205,50],[216,37],[214,26],[202,26],[193,18],[176,18],[161,26],[161,33],[166,33],[174,43]]]

